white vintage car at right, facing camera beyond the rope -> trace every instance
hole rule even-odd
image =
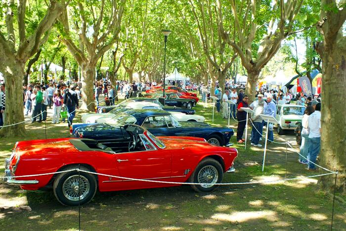
[[[282,135],[285,130],[295,130],[297,122],[302,121],[305,107],[295,104],[276,105],[277,133]]]

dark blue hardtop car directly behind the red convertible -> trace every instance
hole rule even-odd
[[[70,132],[76,137],[102,140],[104,143],[123,137],[126,132],[122,127],[126,124],[142,126],[155,136],[195,136],[218,146],[232,145],[229,139],[234,133],[232,129],[211,127],[206,123],[178,122],[169,112],[156,109],[121,112],[112,119],[112,123],[75,124]]]

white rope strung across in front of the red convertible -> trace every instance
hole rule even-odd
[[[79,168],[70,169],[70,170],[64,170],[64,171],[56,171],[56,172],[42,173],[42,174],[32,174],[32,175],[22,175],[22,176],[10,176],[10,177],[13,177],[13,178],[34,177],[34,176],[53,175],[53,174],[71,172],[71,171],[81,171],[81,172],[86,172],[86,173],[89,173],[89,174],[95,174],[95,175],[107,176],[107,177],[115,177],[115,178],[124,179],[124,180],[135,180],[135,181],[144,181],[144,182],[153,182],[153,183],[163,183],[163,184],[201,185],[201,183],[187,183],[187,182],[171,182],[171,181],[157,181],[157,180],[137,179],[137,178],[130,178],[130,177],[123,177],[123,176],[116,176],[116,175],[109,175],[109,174],[91,172],[91,171],[82,170],[82,169],[79,169]],[[330,171],[330,170],[328,170],[328,171]],[[291,180],[303,180],[304,178],[313,178],[313,177],[326,176],[326,175],[331,175],[331,174],[338,174],[338,172],[337,172],[337,171],[330,171],[329,173],[324,173],[324,174],[317,174],[317,175],[312,175],[312,176],[301,176],[301,177],[294,177],[294,178],[280,179],[280,180],[272,180],[272,181],[249,181],[249,182],[215,183],[215,184],[212,184],[212,183],[205,183],[205,184],[203,184],[203,185],[247,185],[247,184],[266,184],[266,183],[275,183],[275,182],[291,181]],[[1,176],[0,178],[8,178],[8,177]]]

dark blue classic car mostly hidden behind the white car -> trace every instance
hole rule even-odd
[[[165,111],[182,112],[182,113],[185,113],[187,115],[195,114],[195,110],[192,110],[192,109],[181,108],[181,107],[176,107],[176,106],[163,106],[161,104],[161,102],[159,101],[159,99],[157,99],[157,98],[142,98],[142,97],[125,99],[121,103],[118,103],[117,105],[114,105],[114,106],[97,106],[96,112],[97,113],[107,113],[107,112],[110,112],[114,107],[116,107],[118,105],[121,105],[125,102],[134,102],[134,101],[135,102],[141,102],[141,101],[153,102],[153,103],[160,105],[162,107],[162,109],[164,109]]]

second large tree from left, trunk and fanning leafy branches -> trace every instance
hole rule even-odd
[[[126,0],[74,0],[59,21],[63,42],[82,69],[82,108],[93,111],[97,61],[118,39]],[[70,30],[70,23],[74,30]]]

